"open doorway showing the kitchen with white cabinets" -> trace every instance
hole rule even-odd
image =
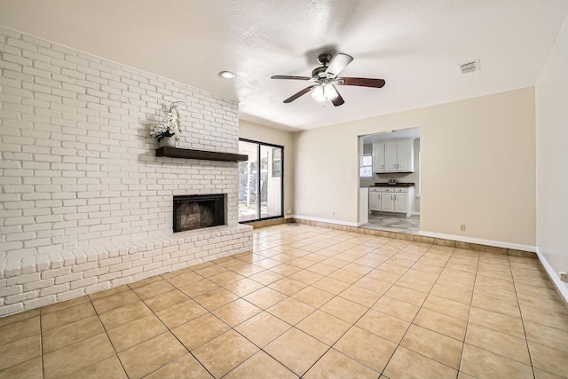
[[[420,232],[420,152],[418,128],[359,136],[360,227]]]

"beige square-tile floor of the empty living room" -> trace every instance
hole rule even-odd
[[[308,225],[0,319],[0,378],[568,377],[536,259]]]

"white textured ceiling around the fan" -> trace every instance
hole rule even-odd
[[[243,119],[312,129],[536,83],[565,0],[0,0],[0,24],[240,101]],[[345,104],[310,95],[322,51],[350,54]],[[458,65],[481,59],[481,71]],[[237,78],[217,76],[231,70]]]

